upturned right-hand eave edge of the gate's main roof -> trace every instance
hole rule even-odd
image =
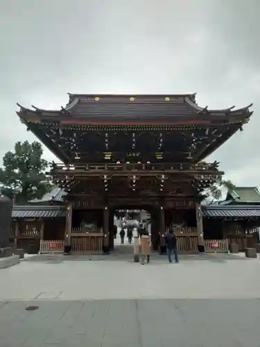
[[[191,99],[189,98],[185,98],[185,102],[191,107],[193,108],[194,112],[196,113],[204,113],[204,114],[209,114],[209,115],[214,115],[214,114],[218,114],[218,115],[243,115],[244,117],[250,117],[250,115],[252,115],[252,112],[250,112],[250,107],[252,107],[252,103],[250,103],[250,105],[245,106],[244,108],[239,108],[239,109],[235,109],[235,106],[229,107],[229,108],[223,108],[220,110],[210,110],[208,109],[208,107],[206,106],[205,108],[200,107],[199,105],[197,105],[196,103],[194,103],[193,101],[191,101]]]

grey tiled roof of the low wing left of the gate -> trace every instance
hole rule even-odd
[[[28,206],[15,205],[12,208],[12,218],[51,218],[66,217],[66,210],[62,206]]]

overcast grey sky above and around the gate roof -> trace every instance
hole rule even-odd
[[[254,103],[244,131],[208,160],[234,184],[260,186],[259,15],[259,0],[1,0],[0,156],[34,139],[17,102],[197,92],[209,108]]]

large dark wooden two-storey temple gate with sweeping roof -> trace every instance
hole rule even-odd
[[[181,251],[204,250],[202,192],[223,172],[203,160],[252,112],[200,108],[196,94],[69,94],[61,110],[18,115],[62,162],[51,175],[66,192],[67,249],[111,251],[112,211],[131,206],[150,211],[153,248],[164,253],[173,224]]]

